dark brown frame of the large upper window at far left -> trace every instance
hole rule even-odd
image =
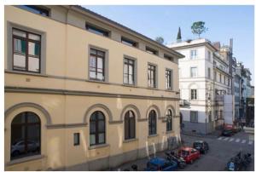
[[[25,32],[26,33],[26,37],[19,37],[13,34],[14,31],[20,31],[20,32]],[[37,35],[38,37],[40,37],[40,41],[37,40],[33,40],[30,39],[28,37],[29,34],[32,35]],[[25,70],[19,70],[19,69],[15,69],[15,39],[19,39],[19,40],[23,40],[26,43],[26,53],[25,53]],[[38,43],[39,44],[39,54],[38,57],[36,57],[36,55],[31,55],[29,54],[29,43]],[[19,28],[16,27],[12,27],[12,71],[18,71],[18,72],[32,72],[32,73],[41,73],[41,47],[42,47],[42,36],[39,35],[38,33],[33,33],[33,32],[27,32],[25,30],[21,30]],[[29,71],[29,57],[32,58],[38,58],[38,72],[33,72],[33,71]]]

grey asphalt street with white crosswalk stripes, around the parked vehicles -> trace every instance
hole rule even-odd
[[[238,152],[250,152],[253,161],[247,167],[248,171],[254,171],[254,140],[249,139],[249,135],[243,131],[232,135],[230,137],[207,135],[182,135],[184,146],[192,146],[195,140],[205,140],[209,144],[210,150],[201,158],[196,160],[193,164],[188,164],[185,169],[178,169],[183,171],[219,171],[224,170],[226,163],[230,158],[234,157]],[[156,157],[165,157],[165,152],[158,152]],[[137,164],[139,170],[146,167],[148,158],[138,159],[130,163],[125,163],[113,170],[131,169],[132,164]]]

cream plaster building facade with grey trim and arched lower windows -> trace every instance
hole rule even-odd
[[[108,169],[179,137],[182,54],[79,6],[5,6],[5,170]]]

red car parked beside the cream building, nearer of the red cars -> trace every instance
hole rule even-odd
[[[186,163],[193,163],[195,159],[200,158],[200,152],[192,147],[182,147],[178,151],[178,155],[182,157]]]

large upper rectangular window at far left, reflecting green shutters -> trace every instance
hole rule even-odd
[[[41,36],[13,29],[13,70],[40,72]]]

